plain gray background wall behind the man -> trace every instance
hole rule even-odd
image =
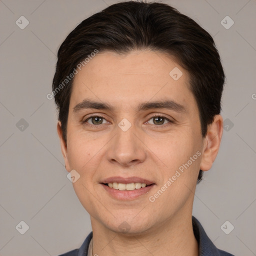
[[[89,215],[66,177],[55,106],[46,94],[51,91],[57,49],[66,35],[84,18],[115,2],[0,0],[2,256],[57,255],[79,247],[91,230]],[[226,74],[226,130],[213,167],[197,185],[193,215],[217,247],[235,255],[256,255],[256,1],[162,2],[214,36]],[[15,23],[21,15],[29,21],[24,29]],[[227,15],[234,21],[229,29],[221,24]],[[231,24],[230,19],[222,22]],[[15,228],[21,220],[29,226],[24,234]],[[234,226],[229,234],[220,228],[226,220]]]

